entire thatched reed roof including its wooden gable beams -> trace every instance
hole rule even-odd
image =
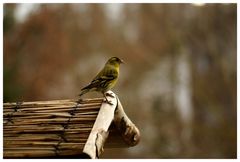
[[[4,103],[4,158],[98,158],[107,139],[106,147],[136,145],[138,129],[117,97],[109,100]]]

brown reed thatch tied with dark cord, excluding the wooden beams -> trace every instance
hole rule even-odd
[[[46,157],[82,152],[102,99],[4,103],[4,157]]]

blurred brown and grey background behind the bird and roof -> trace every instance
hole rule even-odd
[[[237,157],[237,4],[4,4],[3,25],[4,102],[76,98],[126,62],[141,141],[102,158]]]

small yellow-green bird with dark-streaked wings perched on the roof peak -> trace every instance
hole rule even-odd
[[[110,59],[108,59],[103,69],[97,74],[97,76],[91,81],[91,83],[81,89],[79,97],[88,92],[97,91],[101,92],[105,98],[105,101],[112,105],[112,103],[108,101],[106,96],[113,96],[106,92],[112,89],[117,83],[119,77],[119,67],[122,63],[124,63],[123,60],[118,57],[111,57]]]

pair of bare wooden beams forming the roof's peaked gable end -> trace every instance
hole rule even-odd
[[[121,134],[125,142],[125,147],[135,146],[140,141],[140,132],[124,112],[120,100],[112,91],[108,93],[114,96],[113,98],[108,97],[108,100],[110,100],[113,105],[107,103],[102,104],[93,129],[83,149],[84,153],[94,159],[98,158],[103,152],[103,146],[108,138],[112,122],[114,123],[113,127],[117,128],[118,132]],[[114,147],[114,145],[109,143],[107,143],[107,145],[111,148]],[[115,145],[115,147],[116,146],[117,145]]]

